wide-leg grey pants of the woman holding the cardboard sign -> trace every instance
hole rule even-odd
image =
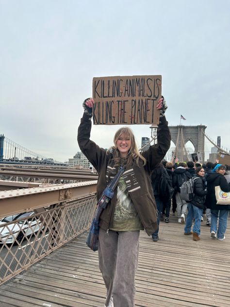
[[[107,289],[105,306],[113,296],[114,307],[134,307],[135,273],[140,231],[99,228],[99,267]]]

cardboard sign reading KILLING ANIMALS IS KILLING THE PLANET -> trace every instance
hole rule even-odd
[[[93,78],[95,125],[158,124],[162,76]]]

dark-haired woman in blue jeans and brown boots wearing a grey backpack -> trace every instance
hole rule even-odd
[[[193,177],[195,196],[188,205],[188,214],[186,225],[184,227],[184,235],[193,235],[194,241],[198,241],[200,240],[200,223],[207,190],[205,190],[204,169],[202,167],[197,167],[195,172],[196,175]],[[191,231],[193,219],[195,222],[193,231]]]

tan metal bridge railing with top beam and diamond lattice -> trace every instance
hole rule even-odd
[[[88,229],[96,183],[0,191],[0,284]]]

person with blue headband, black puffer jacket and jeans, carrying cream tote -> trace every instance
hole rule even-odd
[[[230,205],[217,205],[215,198],[215,187],[220,186],[222,191],[230,192],[230,183],[227,182],[224,174],[226,172],[226,166],[217,164],[213,169],[213,172],[206,176],[208,195],[205,205],[211,209],[211,238],[215,239],[217,234],[218,240],[225,239],[225,231],[228,226],[228,216]],[[217,228],[217,221],[219,218],[219,224]]]

